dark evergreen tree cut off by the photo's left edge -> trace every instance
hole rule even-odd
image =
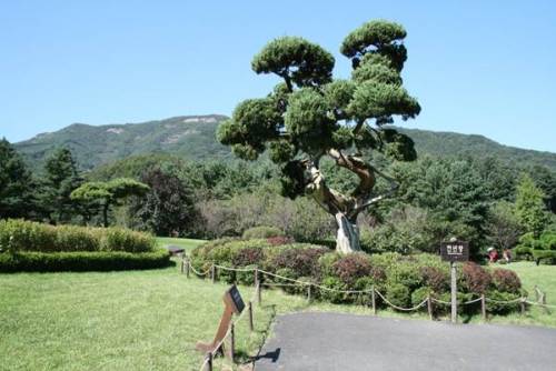
[[[21,156],[0,140],[0,218],[32,218],[34,181]]]

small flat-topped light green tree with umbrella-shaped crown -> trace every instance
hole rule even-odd
[[[95,205],[102,212],[102,222],[108,227],[108,213],[113,205],[131,197],[142,197],[149,191],[149,186],[129,178],[117,178],[108,182],[87,182],[71,192],[71,199],[88,208]]]

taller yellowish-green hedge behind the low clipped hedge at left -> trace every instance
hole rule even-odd
[[[122,228],[50,225],[21,219],[0,220],[0,250],[14,252],[152,252],[155,238]]]

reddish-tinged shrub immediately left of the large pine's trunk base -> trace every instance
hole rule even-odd
[[[271,259],[271,268],[289,268],[296,272],[297,277],[317,277],[318,259],[327,252],[322,248],[286,249]]]

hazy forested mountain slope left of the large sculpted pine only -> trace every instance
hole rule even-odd
[[[56,148],[68,147],[82,169],[141,153],[172,153],[192,160],[221,158],[230,151],[216,141],[215,131],[225,119],[210,114],[98,127],[73,123],[16,143],[16,148],[38,166]]]

